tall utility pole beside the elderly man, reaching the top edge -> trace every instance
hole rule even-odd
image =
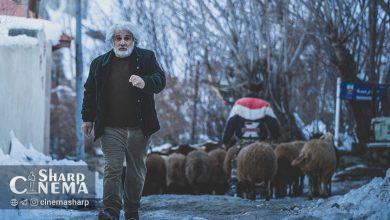
[[[83,51],[81,45],[81,0],[76,0],[76,141],[77,158],[85,159],[84,136],[81,131],[81,106],[83,96]]]

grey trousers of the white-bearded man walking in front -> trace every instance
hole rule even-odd
[[[121,187],[123,162],[126,158],[124,181],[125,213],[138,211],[146,175],[146,152],[150,137],[140,128],[105,127],[101,138],[104,154],[103,203],[119,214],[122,208]]]

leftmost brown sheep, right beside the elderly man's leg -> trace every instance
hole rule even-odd
[[[166,188],[165,160],[159,154],[149,154],[146,157],[146,177],[143,195],[160,194]]]

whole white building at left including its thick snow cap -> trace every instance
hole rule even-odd
[[[0,149],[4,153],[10,150],[11,130],[23,144],[49,153],[52,48],[61,35],[61,28],[47,20],[0,15]]]

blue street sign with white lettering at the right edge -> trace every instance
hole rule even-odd
[[[343,82],[340,86],[340,98],[344,100],[371,101],[373,92],[380,101],[387,98],[389,85]]]

